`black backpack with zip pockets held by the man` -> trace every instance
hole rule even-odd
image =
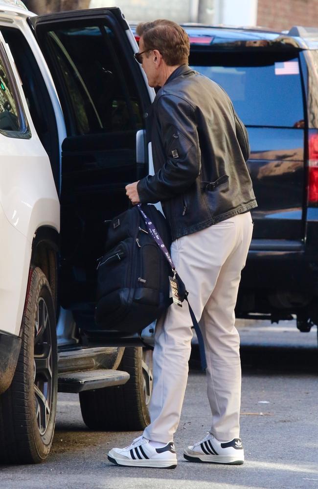
[[[163,243],[171,238],[162,214],[154,205],[141,208],[156,223]],[[137,207],[111,222],[106,254],[97,274],[95,321],[99,328],[136,333],[147,327],[171,304],[171,267],[148,233]]]

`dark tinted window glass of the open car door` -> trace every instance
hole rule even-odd
[[[111,29],[68,27],[48,33],[75,127],[71,134],[138,130],[142,116],[127,63]]]

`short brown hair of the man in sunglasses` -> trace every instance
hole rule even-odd
[[[136,33],[142,36],[145,49],[158,49],[168,66],[188,63],[189,36],[176,22],[165,19],[140,22],[136,27]]]

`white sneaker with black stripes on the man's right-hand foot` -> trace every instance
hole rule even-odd
[[[219,442],[211,433],[193,446],[188,446],[183,457],[190,462],[210,462],[213,464],[242,465],[244,450],[240,438],[230,442]]]

